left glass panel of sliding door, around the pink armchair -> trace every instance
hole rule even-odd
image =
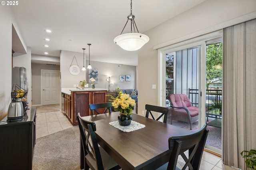
[[[170,102],[168,100],[168,96],[170,94],[186,94],[190,101],[193,103],[199,102],[200,95],[196,95],[192,93],[194,90],[201,89],[199,86],[200,81],[200,55],[201,55],[201,45],[183,48],[183,49],[175,49],[175,51],[166,51],[165,55],[165,99],[166,106],[170,106]],[[199,108],[199,113],[201,113],[201,107]],[[201,118],[201,114],[199,116]],[[171,119],[171,118],[170,118]],[[199,119],[201,120],[201,119]],[[189,124],[180,122],[180,121],[172,121],[173,125],[190,128]],[[202,122],[197,121],[193,124],[192,129],[198,130],[198,126],[201,127]]]

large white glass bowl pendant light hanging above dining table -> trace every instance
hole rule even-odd
[[[131,21],[131,32],[127,34],[122,34],[126,26],[125,24],[121,34],[114,39],[114,43],[116,43],[122,49],[125,49],[127,51],[136,51],[140,49],[143,45],[145,45],[149,41],[149,38],[144,34],[140,34],[138,31],[138,28],[134,21],[135,16],[132,15],[132,0],[131,0],[131,13],[130,15],[128,15],[127,18],[128,20],[126,21],[126,24],[129,20]],[[135,33],[134,25],[138,33]],[[132,32],[132,27],[134,29],[134,33]]]

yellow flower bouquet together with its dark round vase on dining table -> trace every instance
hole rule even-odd
[[[112,101],[112,106],[114,111],[120,111],[118,115],[118,122],[121,126],[128,126],[132,122],[132,107],[135,105],[135,100],[126,93],[119,91],[119,88],[116,89],[118,96],[114,98],[110,95]]]

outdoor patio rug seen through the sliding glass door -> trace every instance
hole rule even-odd
[[[207,123],[209,124],[209,122]],[[190,124],[182,127],[185,129],[190,130]],[[207,126],[209,129],[209,133],[206,139],[206,145],[213,146],[214,148],[221,149],[222,148],[222,142],[221,142],[221,128],[213,127],[213,126]],[[192,124],[192,130],[196,132],[198,130],[198,121]]]

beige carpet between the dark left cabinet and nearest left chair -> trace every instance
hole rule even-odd
[[[32,169],[80,170],[78,126],[37,138]]]

